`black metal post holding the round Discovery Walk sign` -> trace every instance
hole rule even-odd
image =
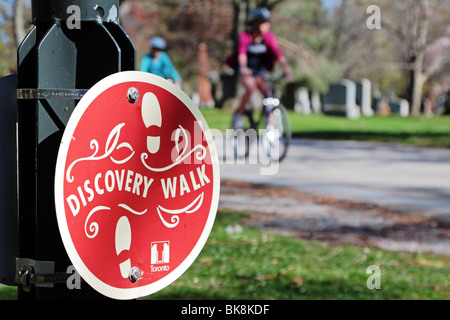
[[[135,48],[119,24],[118,0],[33,0],[32,12],[34,27],[19,47],[17,68],[19,299],[99,297],[86,283],[70,290],[64,281],[33,282],[39,273],[57,278],[71,264],[56,221],[54,174],[78,100],[48,94],[76,96],[112,73],[134,70]]]

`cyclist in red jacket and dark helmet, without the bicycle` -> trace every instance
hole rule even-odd
[[[273,70],[276,62],[283,68],[286,79],[292,81],[286,58],[270,31],[270,18],[270,11],[266,8],[252,10],[249,14],[250,30],[239,35],[238,74],[245,93],[234,116],[234,128],[243,127],[245,107],[255,89],[265,95],[266,82],[263,76]]]

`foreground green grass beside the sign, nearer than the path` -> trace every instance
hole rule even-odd
[[[174,283],[147,299],[450,299],[450,257],[331,245],[273,234],[219,212],[199,257]],[[242,226],[230,233],[230,226]],[[368,289],[369,266],[381,289]],[[16,289],[0,287],[0,299]]]

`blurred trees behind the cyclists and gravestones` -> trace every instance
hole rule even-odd
[[[376,4],[381,29],[367,28]],[[372,80],[384,94],[411,102],[450,90],[449,0],[124,0],[121,23],[140,58],[152,35],[164,36],[187,83],[198,73],[197,48],[208,44],[211,69],[221,71],[245,28],[249,10],[272,10],[272,29],[295,74],[312,91],[325,93],[341,78]],[[15,65],[15,51],[31,24],[30,0],[0,2],[0,70]]]

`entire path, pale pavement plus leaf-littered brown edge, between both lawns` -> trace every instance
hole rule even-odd
[[[450,256],[450,150],[294,140],[278,166],[257,159],[255,147],[246,163],[236,163],[224,142],[216,139],[219,205],[250,213],[250,224],[306,239]]]

